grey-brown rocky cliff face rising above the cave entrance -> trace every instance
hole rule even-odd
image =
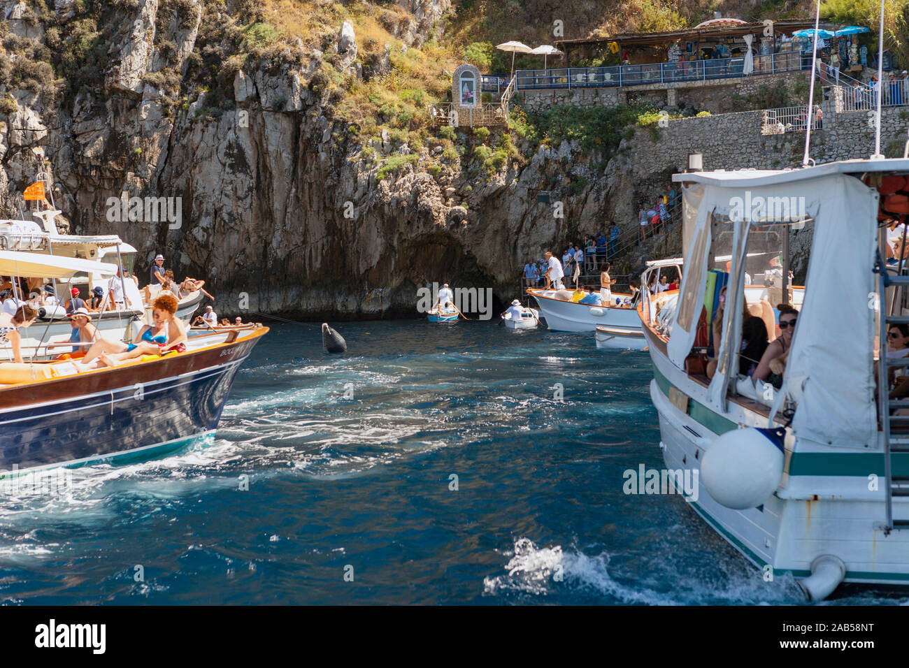
[[[632,171],[615,162],[624,158],[607,164],[570,143],[482,177],[426,171],[436,149],[424,146],[380,178],[364,143],[336,120],[325,79],[381,75],[388,49],[358,58],[345,24],[322,35],[321,48],[297,40],[238,60],[231,49],[251,39],[249,29],[218,6],[121,0],[105,10],[104,28],[86,34],[70,0],[48,15],[5,3],[14,68],[0,90],[5,213],[15,214],[15,193],[47,171],[74,232],[121,234],[139,249],[140,270],[165,254],[178,277],[210,282],[220,312],[248,304],[363,317],[413,314],[416,288],[433,281],[492,287],[510,300],[527,258],[605,229],[667,183],[666,165],[639,167],[631,183]],[[400,0],[378,16],[406,48],[437,35],[450,10],[449,0]],[[74,44],[81,66],[71,78],[33,84],[15,75],[17,53],[45,45],[69,53]],[[200,75],[214,85],[186,85]],[[458,142],[469,150],[474,139]],[[383,136],[378,153],[408,150]],[[543,191],[552,192],[548,203],[538,201]],[[147,206],[139,219],[120,220],[111,203],[124,193],[174,198],[178,220],[149,220]]]

